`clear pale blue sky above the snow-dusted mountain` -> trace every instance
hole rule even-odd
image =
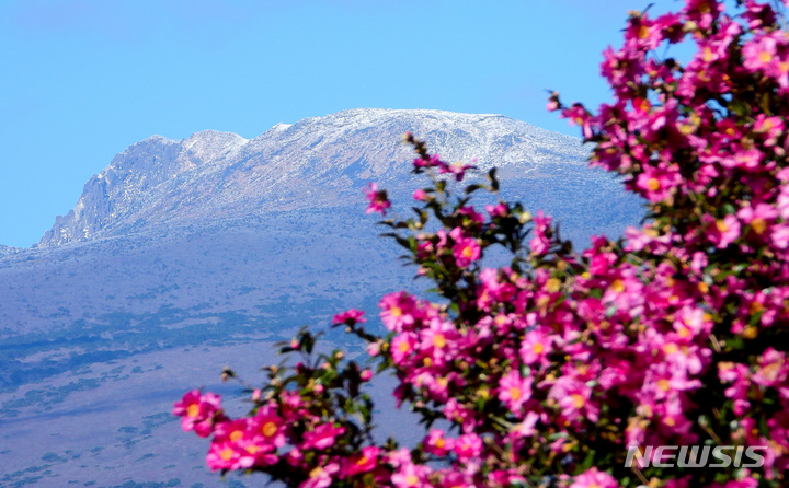
[[[345,108],[504,114],[609,100],[634,0],[0,2],[0,244],[27,247],[126,147]],[[660,9],[678,2],[658,0]]]

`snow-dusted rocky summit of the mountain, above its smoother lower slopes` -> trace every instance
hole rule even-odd
[[[512,118],[353,109],[278,124],[250,140],[214,130],[181,141],[148,138],[93,176],[41,245],[358,201],[367,181],[391,189],[410,182],[412,155],[400,143],[408,130],[426,138],[431,150],[447,160],[502,166],[516,178],[558,170],[582,174],[585,183],[610,179],[585,167],[578,139]],[[614,182],[607,183],[614,190]]]

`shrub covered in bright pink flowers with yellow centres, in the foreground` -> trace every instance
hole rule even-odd
[[[407,135],[430,183],[414,217],[382,223],[436,300],[384,297],[384,336],[356,310],[333,322],[397,375],[398,403],[428,426],[415,449],[374,442],[373,373],[301,332],[283,347],[301,361],[268,370],[248,417],[199,391],[175,405],[184,430],[213,433],[208,465],[299,487],[786,486],[789,34],[778,5],[734,3],[631,13],[624,46],[604,53],[614,103],[594,114],[551,96],[591,163],[649,201],[620,241],[576,254],[550,217],[498,197],[495,171],[458,186],[473,169]],[[655,54],[683,42],[697,47],[687,65]],[[370,211],[389,209],[366,191]],[[477,191],[498,201],[474,208]],[[485,267],[496,247],[507,266]],[[759,448],[764,463],[627,466],[628,448],[662,445]]]

